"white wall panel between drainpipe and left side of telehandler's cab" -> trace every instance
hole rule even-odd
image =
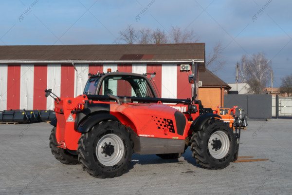
[[[75,74],[75,80],[77,79],[77,83],[75,82],[74,94],[75,96],[79,96],[83,94],[84,87],[88,80],[89,73],[89,65],[88,64],[76,64],[77,69],[77,78]],[[77,85],[77,86],[76,86]]]

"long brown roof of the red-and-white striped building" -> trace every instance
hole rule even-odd
[[[0,60],[203,60],[205,43],[0,46]]]

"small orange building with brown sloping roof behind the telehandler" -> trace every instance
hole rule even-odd
[[[207,69],[205,72],[199,72],[199,81],[202,81],[202,87],[199,87],[198,99],[201,100],[202,105],[213,110],[218,106],[223,107],[224,95],[231,87]]]

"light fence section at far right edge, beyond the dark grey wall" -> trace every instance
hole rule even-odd
[[[273,97],[272,116],[292,117],[292,97]]]

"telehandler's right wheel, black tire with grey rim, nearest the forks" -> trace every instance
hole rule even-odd
[[[234,159],[236,137],[222,120],[208,120],[200,131],[193,132],[190,150],[196,163],[205,169],[223,169]]]

